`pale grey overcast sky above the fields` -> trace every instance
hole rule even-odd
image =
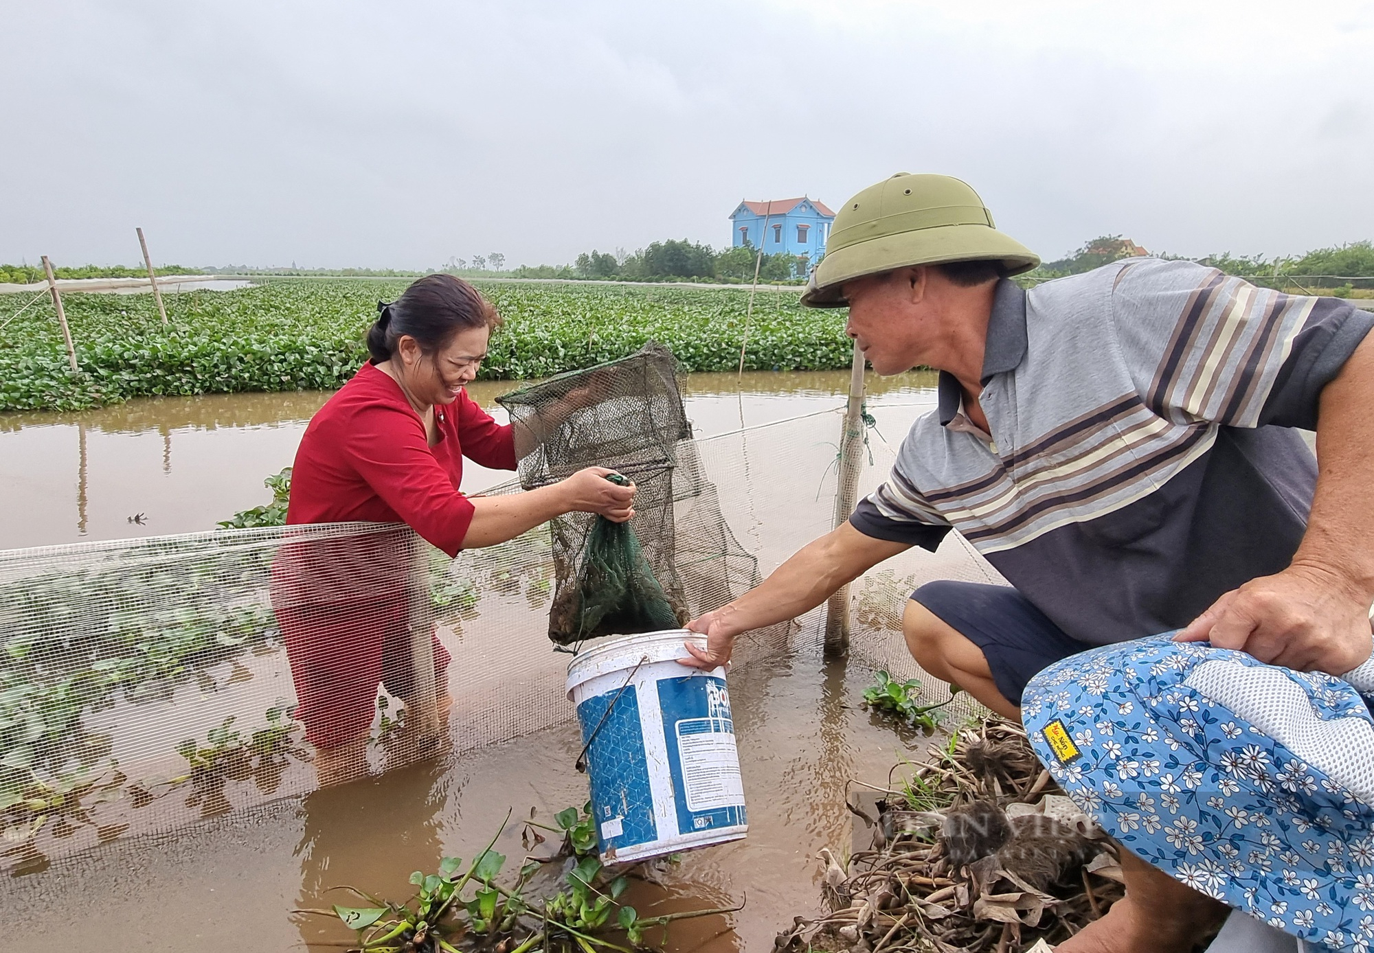
[[[0,261],[558,264],[893,172],[1046,258],[1374,238],[1366,0],[0,10]]]

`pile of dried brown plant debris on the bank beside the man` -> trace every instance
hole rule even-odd
[[[1020,725],[971,722],[899,768],[877,816],[849,805],[871,846],[846,864],[820,854],[827,913],[797,917],[776,950],[1025,953],[1121,898],[1114,843],[1059,792]]]

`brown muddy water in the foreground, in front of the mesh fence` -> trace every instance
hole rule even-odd
[[[859,709],[868,680],[866,666],[846,671],[815,654],[731,674],[749,836],[684,854],[660,884],[636,883],[628,902],[646,916],[747,904],[731,917],[673,924],[669,950],[767,950],[793,916],[816,909],[816,851],[851,846],[846,784],[886,784],[889,768],[912,757],[907,743],[925,744]],[[515,820],[497,849],[518,865],[518,820],[536,807],[547,823],[585,798],[577,753],[576,726],[562,725],[174,835],[104,845],[0,890],[0,950],[34,949],[38,937],[89,950],[338,950],[349,931],[291,910],[357,902],[330,890],[339,884],[408,897],[411,871],[473,857],[507,810]]]

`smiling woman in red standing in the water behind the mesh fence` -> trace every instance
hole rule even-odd
[[[536,442],[497,424],[464,390],[477,376],[496,309],[470,284],[429,275],[378,305],[371,360],[311,419],[295,453],[286,522],[407,523],[449,556],[489,547],[567,512],[624,522],[633,486],[591,467],[526,493],[470,500],[463,457],[514,470]],[[576,402],[567,411],[576,409]],[[365,773],[376,687],[414,696],[411,536],[302,534],[276,560],[272,603],[295,682],[295,717],[316,747],[322,784]],[[448,652],[434,640],[437,684]],[[441,699],[442,707],[442,699]]]

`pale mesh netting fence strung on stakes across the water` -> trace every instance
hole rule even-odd
[[[874,409],[861,494],[886,478],[922,409]],[[679,444],[673,566],[692,615],[831,529],[842,416]],[[569,655],[548,639],[552,553],[547,525],[449,560],[372,523],[0,552],[0,868],[38,869],[312,790],[304,715],[324,743],[365,732],[371,770],[433,754],[425,722],[436,714],[440,742],[458,751],[572,718]],[[900,634],[907,595],[936,578],[996,574],[952,533],[934,555],[910,551],[870,571],[851,588],[853,663],[944,692]],[[736,659],[816,645],[823,611],[749,633]],[[383,647],[379,662],[360,661],[360,641]],[[415,704],[425,692],[452,707],[426,714]]]

